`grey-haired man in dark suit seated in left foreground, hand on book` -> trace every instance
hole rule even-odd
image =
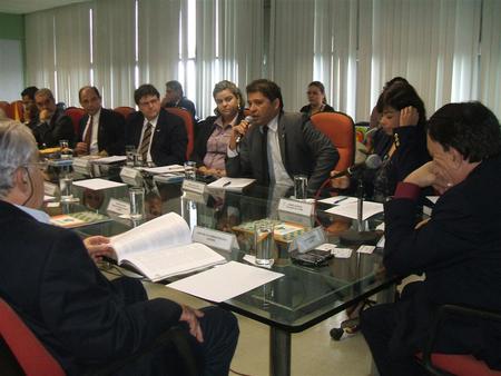
[[[0,296],[21,316],[68,375],[132,358],[174,326],[188,337],[203,375],[227,375],[238,327],[217,307],[202,310],[156,298],[137,279],[106,279],[72,230],[39,221],[43,177],[30,130],[0,126]],[[8,230],[6,230],[8,228]],[[179,375],[176,354],[158,346],[114,375]]]

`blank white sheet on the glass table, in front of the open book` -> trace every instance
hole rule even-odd
[[[225,265],[177,280],[167,285],[167,287],[206,300],[220,303],[283,276],[282,273],[229,261]],[[228,281],[230,283],[228,284]]]

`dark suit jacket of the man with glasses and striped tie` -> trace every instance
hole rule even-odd
[[[129,115],[126,120],[126,145],[139,148],[144,121],[145,117],[140,111]],[[151,139],[153,161],[157,166],[183,165],[187,147],[188,133],[183,119],[161,108]]]

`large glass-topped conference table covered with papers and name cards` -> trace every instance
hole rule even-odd
[[[118,176],[111,179],[119,180]],[[243,194],[217,192],[194,195],[184,192],[180,182],[164,184],[146,177],[146,219],[175,211],[183,216],[190,228],[202,226],[235,232],[240,224],[263,218],[284,219],[277,211],[278,199],[284,192],[262,187],[249,187]],[[95,210],[106,214],[111,198],[128,200],[128,187],[121,186],[100,191],[75,187],[78,204],[61,205],[66,212]],[[295,218],[302,226],[322,226],[330,243],[338,243],[338,235],[352,226],[346,218],[330,215],[316,208],[314,217]],[[49,212],[51,214],[51,212]],[[291,218],[285,218],[289,220]],[[137,222],[115,218],[89,225],[78,230],[82,235],[112,236]],[[236,231],[239,249],[222,253],[228,260],[242,261],[253,253],[249,237]],[[272,270],[284,276],[220,303],[219,306],[249,317],[271,328],[271,375],[291,375],[291,335],[303,332],[345,308],[377,294],[379,301],[389,301],[394,295],[397,278],[387,277],[382,267],[382,255],[355,250],[350,258],[333,258],[321,267],[299,266],[291,261],[289,244],[278,244]]]

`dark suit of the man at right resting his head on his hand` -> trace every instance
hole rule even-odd
[[[463,304],[501,310],[501,157],[484,160],[448,190],[431,220],[414,230],[411,199],[385,204],[384,263],[390,274],[426,274],[412,295],[395,304],[391,350],[414,354],[439,305]],[[449,320],[436,352],[469,353],[501,369],[501,327],[479,320]]]

